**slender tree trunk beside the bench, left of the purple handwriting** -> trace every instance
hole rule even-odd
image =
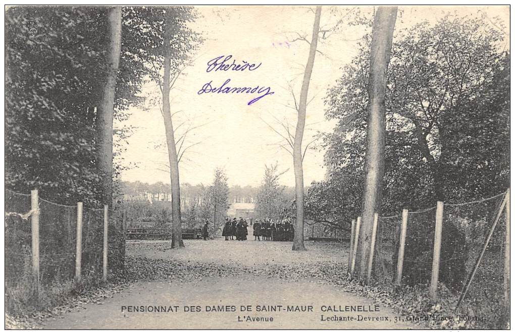
[[[167,13],[168,15],[168,13]],[[166,132],[166,145],[168,146],[168,162],[170,163],[170,184],[171,184],[171,248],[182,248],[181,230],[181,193],[179,187],[179,160],[175,147],[174,126],[171,122],[170,113],[170,46],[169,36],[171,26],[169,20],[165,19],[165,55],[163,75],[163,120]]]

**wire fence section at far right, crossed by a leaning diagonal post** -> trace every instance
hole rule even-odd
[[[450,290],[461,291],[466,285],[467,277],[471,275],[477,258],[487,243],[503,198],[498,195],[482,202],[448,204],[445,207],[442,242],[445,243],[446,250],[442,252],[451,251],[449,247],[454,250],[447,253],[447,257],[441,257],[444,264],[440,264],[439,281]],[[505,234],[506,214],[502,213],[468,288],[467,299],[479,303],[502,302],[503,287],[500,286],[503,284]],[[495,310],[495,306],[491,309]]]

